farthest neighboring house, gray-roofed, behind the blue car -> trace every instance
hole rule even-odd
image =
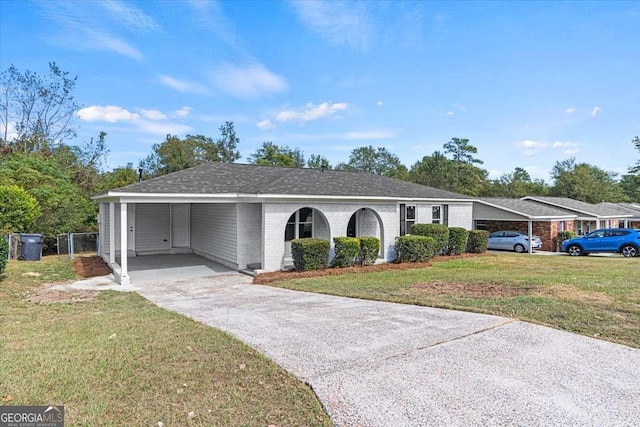
[[[616,228],[620,221],[633,215],[616,206],[594,205],[568,197],[527,196],[522,200],[531,200],[546,206],[552,206],[577,215],[574,230],[586,234],[598,228]]]

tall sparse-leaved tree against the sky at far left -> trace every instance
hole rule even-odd
[[[20,72],[11,65],[0,75],[2,143],[26,153],[74,138],[79,109],[73,95],[76,80],[55,62],[49,63],[46,77],[29,70]],[[9,141],[12,126],[17,137]]]

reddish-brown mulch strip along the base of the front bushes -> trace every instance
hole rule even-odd
[[[451,256],[438,256],[428,262],[408,262],[408,263],[395,263],[389,262],[384,264],[375,265],[359,265],[347,268],[326,268],[324,270],[313,271],[274,271],[272,273],[258,274],[253,278],[253,283],[256,285],[264,285],[267,283],[280,282],[284,280],[293,279],[306,279],[309,277],[322,277],[322,276],[336,276],[340,274],[349,273],[372,273],[376,271],[389,271],[389,270],[410,270],[430,267],[431,264],[436,262],[453,261],[465,258],[474,258],[479,256],[495,256],[494,254],[461,254]]]

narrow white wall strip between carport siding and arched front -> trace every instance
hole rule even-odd
[[[262,262],[262,204],[238,204],[238,267]]]

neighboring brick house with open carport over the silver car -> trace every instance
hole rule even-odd
[[[575,213],[530,200],[482,197],[473,202],[473,228],[540,236],[542,250],[558,249],[558,231],[574,231]]]

